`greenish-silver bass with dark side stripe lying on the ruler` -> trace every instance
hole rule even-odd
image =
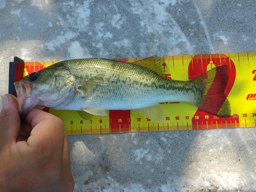
[[[135,62],[104,58],[60,61],[14,83],[18,111],[25,117],[35,106],[49,107],[79,111],[86,118],[106,116],[105,110],[132,110],[163,122],[165,114],[160,103],[184,101],[212,115],[231,115],[225,95],[228,66],[182,81],[165,78],[163,63],[160,57]]]

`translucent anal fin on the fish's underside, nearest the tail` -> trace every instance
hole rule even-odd
[[[160,104],[154,105],[154,106],[148,106],[146,108],[141,109],[134,109],[135,113],[138,112],[141,115],[150,118],[153,121],[156,122],[163,122],[164,121],[164,111]]]

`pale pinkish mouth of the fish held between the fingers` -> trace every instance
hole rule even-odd
[[[18,99],[18,112],[22,117],[26,115],[38,104],[40,99],[31,95],[30,85],[21,81],[14,83],[14,88]]]

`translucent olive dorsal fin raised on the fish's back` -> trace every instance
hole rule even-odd
[[[137,66],[154,71],[158,75],[167,74],[169,72],[168,67],[164,65],[164,61],[161,57],[148,57],[138,61],[132,62]]]

